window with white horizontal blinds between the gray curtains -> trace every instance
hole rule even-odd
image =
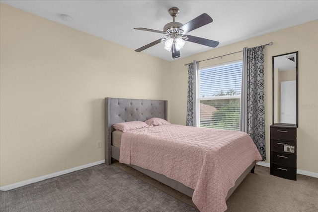
[[[239,130],[242,61],[200,68],[200,127]]]

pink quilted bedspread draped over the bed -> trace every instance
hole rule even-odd
[[[225,198],[253,161],[262,160],[244,132],[161,125],[122,134],[120,162],[163,174],[194,190],[201,212],[224,212]]]

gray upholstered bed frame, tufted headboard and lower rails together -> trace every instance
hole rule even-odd
[[[152,117],[159,117],[167,120],[167,101],[163,100],[137,100],[121,98],[105,98],[105,164],[110,165],[112,159],[119,161],[120,149],[112,145],[112,132],[115,130],[113,124],[127,121],[146,121]],[[226,200],[231,196],[249,172],[254,173],[255,162],[253,162],[235,182]],[[167,178],[164,175],[143,169],[139,166],[129,165],[132,168],[158,180],[159,182],[192,197],[194,190],[182,183]]]

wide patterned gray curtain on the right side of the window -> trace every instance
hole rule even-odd
[[[263,49],[264,46],[243,49],[240,130],[251,136],[266,160]]]

